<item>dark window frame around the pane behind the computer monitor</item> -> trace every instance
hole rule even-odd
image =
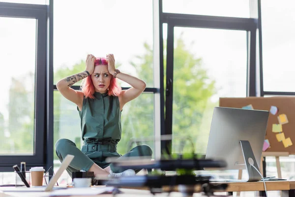
[[[251,2],[253,0],[250,0]],[[250,3],[251,3],[250,2]],[[160,0],[160,8],[162,8],[162,0]],[[250,6],[250,5],[249,5]],[[163,135],[172,135],[173,120],[173,59],[174,59],[174,27],[189,28],[209,28],[209,29],[225,29],[225,30],[242,30],[247,31],[247,97],[257,96],[257,18],[238,18],[238,17],[221,17],[207,15],[192,14],[176,14],[163,13],[160,9],[160,29],[163,24],[167,24],[167,71],[166,71],[166,102],[165,102],[165,124]],[[163,30],[160,31],[161,46],[163,46]],[[163,48],[161,48],[163,51]],[[164,58],[161,54],[161,60]],[[161,61],[161,67],[164,62]],[[168,87],[168,88],[167,88]],[[162,93],[164,94],[164,93]],[[167,96],[168,95],[168,96]],[[172,150],[172,140],[163,141],[161,144],[162,152],[170,153]]]

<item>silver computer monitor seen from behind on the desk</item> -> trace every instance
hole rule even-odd
[[[224,160],[223,169],[247,169],[245,181],[261,180],[251,164],[259,169],[268,116],[263,110],[215,107],[206,159]]]

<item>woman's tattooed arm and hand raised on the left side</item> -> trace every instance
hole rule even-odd
[[[92,74],[93,69],[94,69],[94,61],[95,57],[93,55],[88,55],[87,60],[86,60],[86,70],[89,72],[89,74]],[[71,88],[72,85],[77,83],[78,81],[86,78],[88,76],[88,73],[86,71],[80,72],[78,74],[74,74],[68,77],[65,77],[57,83],[57,88],[60,92],[60,94],[74,102],[78,107],[79,110],[82,110],[82,105],[83,105],[83,97],[84,94],[81,91],[76,91]]]

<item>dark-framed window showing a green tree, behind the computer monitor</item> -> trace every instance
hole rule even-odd
[[[173,135],[166,150],[205,155],[213,108],[219,105],[219,98],[246,97],[255,92],[255,20],[163,15],[167,23],[163,37],[167,37],[164,67],[168,79],[165,129]],[[196,173],[237,178],[237,170]]]

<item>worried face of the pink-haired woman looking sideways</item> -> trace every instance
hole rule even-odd
[[[95,92],[106,93],[113,76],[108,71],[108,66],[98,65],[94,66],[94,71],[91,79],[95,88]]]

